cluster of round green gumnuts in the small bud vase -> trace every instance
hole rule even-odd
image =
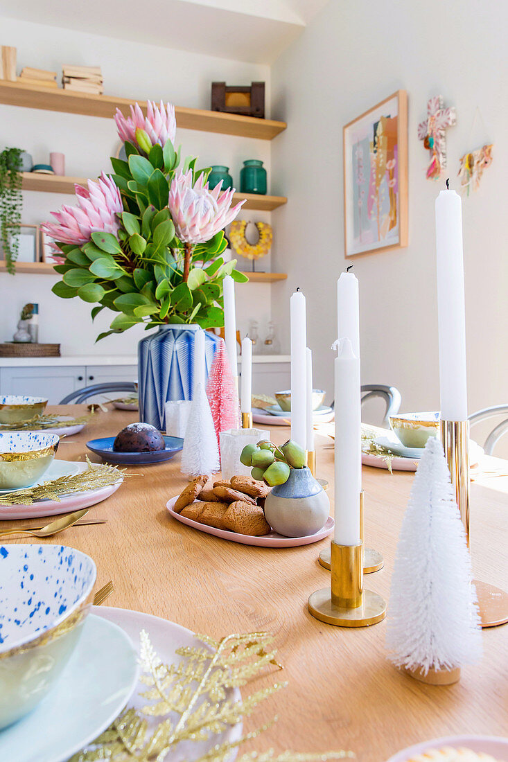
[[[305,450],[292,439],[281,447],[269,440],[246,444],[240,454],[240,463],[252,466],[252,479],[265,481],[268,487],[285,484],[291,469],[304,469],[305,462]]]

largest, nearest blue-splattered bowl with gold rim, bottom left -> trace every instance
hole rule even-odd
[[[79,640],[96,573],[74,548],[0,545],[0,729],[55,684]]]

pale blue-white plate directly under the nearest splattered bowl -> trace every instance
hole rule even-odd
[[[89,614],[53,690],[37,709],[0,731],[0,759],[65,762],[111,725],[137,676],[137,653],[126,633]]]

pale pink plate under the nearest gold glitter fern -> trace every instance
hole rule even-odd
[[[94,606],[92,611],[98,616],[104,617],[109,622],[113,622],[121,627],[133,642],[134,648],[137,652],[140,649],[140,632],[142,629],[148,632],[150,636],[150,642],[155,648],[156,654],[162,660],[164,664],[178,663],[181,661],[181,657],[175,654],[177,648],[182,646],[198,646],[198,648],[206,648],[201,642],[195,639],[194,632],[190,629],[185,629],[178,624],[168,622],[167,620],[159,619],[158,616],[150,616],[150,614],[143,614],[139,611],[129,611],[126,609],[117,609],[108,606]],[[220,634],[220,633],[218,633]],[[223,633],[226,635],[227,633]],[[128,706],[133,706],[134,709],[141,709],[146,706],[146,700],[140,698],[138,695],[141,690],[146,690],[146,686],[138,684],[136,690],[134,690]],[[233,701],[240,701],[242,696],[240,690],[237,688],[229,690],[227,692],[227,699]],[[156,720],[147,718],[148,727],[153,728],[156,724]],[[175,752],[166,758],[165,762],[181,762],[181,760],[195,760],[196,757],[201,757],[210,751],[216,744],[222,744],[224,741],[238,741],[242,736],[242,723],[234,725],[232,728],[228,728],[220,735],[214,735],[207,741],[184,741],[182,744],[178,744]],[[233,759],[233,757],[231,757]],[[13,760],[14,762],[14,760]],[[37,760],[38,762],[38,760]]]

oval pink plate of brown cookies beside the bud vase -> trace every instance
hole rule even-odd
[[[270,487],[251,476],[232,476],[230,481],[209,482],[207,476],[193,479],[181,495],[166,504],[169,514],[207,534],[242,545],[264,548],[295,548],[317,543],[333,532],[328,517],[319,532],[304,537],[278,534],[265,519],[263,507]]]

